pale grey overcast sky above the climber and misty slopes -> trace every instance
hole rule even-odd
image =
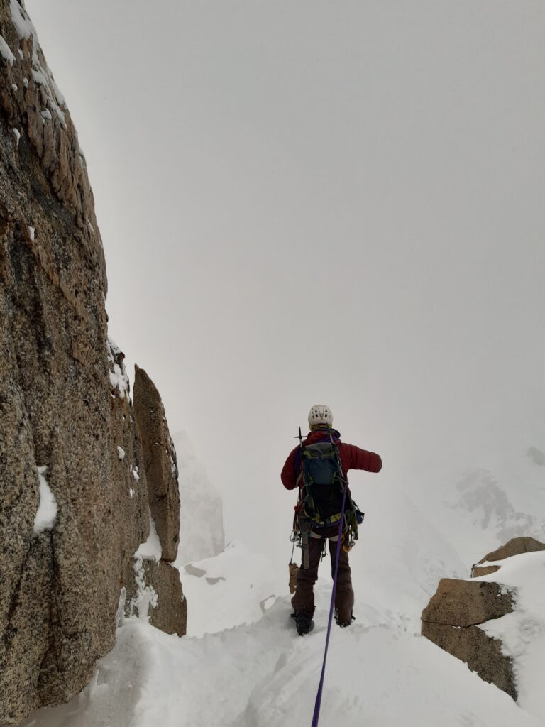
[[[110,334],[228,537],[288,546],[279,472],[314,403],[382,454],[363,509],[545,448],[541,0],[26,7],[86,154]]]

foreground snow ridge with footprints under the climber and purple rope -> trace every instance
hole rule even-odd
[[[539,560],[542,568],[545,558],[519,558],[525,559],[522,575],[506,569],[505,579],[520,585],[528,580],[530,561]],[[352,561],[357,563],[356,553]],[[169,636],[127,619],[92,683],[70,704],[39,710],[25,727],[310,726],[331,593],[324,566],[315,630],[299,638],[290,618],[287,568],[275,574],[264,557],[236,543],[193,563],[193,573],[182,569],[189,635]],[[408,572],[405,584],[412,577]],[[382,574],[383,582],[390,578]],[[321,726],[543,727],[545,712],[540,719],[523,711],[419,636],[419,623],[404,609],[421,586],[412,595],[401,587],[399,610],[392,602],[379,608],[378,594],[387,593],[381,584],[366,592],[358,580],[355,568],[357,620],[332,632]],[[427,597],[420,598],[425,605]]]

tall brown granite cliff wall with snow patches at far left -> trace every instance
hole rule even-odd
[[[105,294],[70,113],[23,5],[0,0],[2,725],[91,678],[150,532],[145,455]],[[163,547],[171,558],[175,543]],[[183,632],[179,580],[161,564],[148,570],[158,603],[177,603],[169,628]]]

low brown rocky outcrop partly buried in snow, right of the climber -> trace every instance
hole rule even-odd
[[[472,576],[483,577],[501,571],[501,563],[522,553],[545,550],[545,545],[533,538],[515,538],[498,550],[488,553],[473,566]],[[512,656],[501,639],[489,635],[491,622],[496,623],[517,608],[517,588],[487,581],[441,579],[437,593],[422,612],[421,633],[449,654],[466,662],[485,681],[496,684],[517,699],[517,680]],[[486,624],[486,625],[485,625]]]

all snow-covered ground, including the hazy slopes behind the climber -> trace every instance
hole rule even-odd
[[[274,562],[259,554],[259,527],[251,547],[230,542],[222,550],[221,498],[187,436],[174,441],[187,635],[126,619],[84,691],[35,712],[25,727],[310,726],[331,595],[328,558],[316,586],[315,629],[299,638],[290,618],[287,533]],[[435,497],[401,485],[366,490],[366,519],[350,555],[356,620],[350,629],[334,624],[320,726],[545,726],[544,553],[508,559],[483,577],[517,589],[517,612],[483,629],[501,636],[514,658],[519,705],[420,636],[421,611],[440,578],[467,578],[506,534],[539,529],[542,466],[534,448],[511,469],[498,465],[501,477],[469,470],[456,487],[438,483]],[[160,557],[151,545],[138,557]]]

